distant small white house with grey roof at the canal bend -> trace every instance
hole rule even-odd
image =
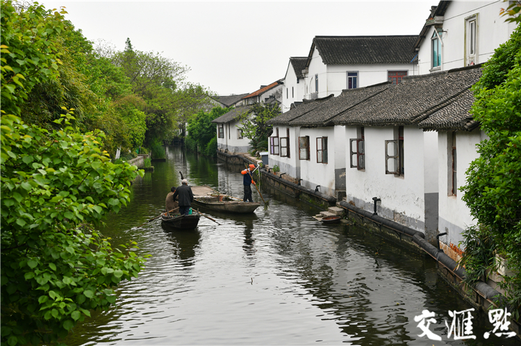
[[[242,135],[240,120],[249,114],[254,106],[243,105],[213,119],[217,124],[217,149],[229,153],[247,153],[250,148],[249,139]]]

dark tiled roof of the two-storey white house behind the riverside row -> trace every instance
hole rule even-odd
[[[408,64],[417,35],[315,36],[324,64]]]

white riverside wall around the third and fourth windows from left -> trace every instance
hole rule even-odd
[[[331,150],[331,148],[335,148],[334,128],[301,128],[300,136],[309,136],[310,157],[308,160],[300,160],[301,185],[310,189],[315,189],[317,185],[320,185],[318,191],[334,196],[336,155],[334,149]],[[317,163],[317,137],[327,137],[327,164]]]

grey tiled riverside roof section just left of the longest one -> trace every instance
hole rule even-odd
[[[290,121],[290,126],[333,126],[331,119],[342,112],[360,104],[368,98],[378,97],[378,94],[391,87],[390,82],[361,87],[357,89],[342,90],[342,94],[321,103],[310,112],[302,114],[297,119]]]

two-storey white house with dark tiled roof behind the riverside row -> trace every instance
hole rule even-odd
[[[399,83],[417,74],[417,35],[315,36],[304,67],[304,98],[338,96],[385,81]]]

